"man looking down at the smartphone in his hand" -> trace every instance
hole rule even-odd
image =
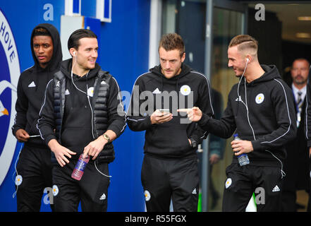
[[[185,45],[178,34],[167,34],[159,43],[160,65],[135,81],[128,108],[128,126],[146,131],[142,186],[147,211],[197,211],[199,177],[197,144],[207,132],[185,115],[181,106],[202,107],[214,114],[209,82],[183,64]]]

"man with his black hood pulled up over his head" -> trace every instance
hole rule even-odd
[[[39,211],[44,188],[51,187],[51,151],[36,127],[47,82],[61,66],[59,32],[47,23],[32,30],[30,48],[35,65],[21,73],[18,81],[13,135],[24,142],[16,167],[18,211]],[[51,205],[53,210],[53,205]]]

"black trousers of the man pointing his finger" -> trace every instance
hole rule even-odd
[[[280,167],[231,164],[226,168],[222,209],[224,212],[245,211],[255,192],[257,211],[281,211]]]

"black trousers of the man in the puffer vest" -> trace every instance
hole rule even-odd
[[[53,167],[53,192],[56,212],[76,212],[79,203],[83,212],[106,212],[108,187],[110,183],[107,163],[87,163],[80,181],[71,178],[71,173],[78,160],[70,160],[64,167]]]

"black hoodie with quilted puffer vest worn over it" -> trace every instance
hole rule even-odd
[[[98,78],[101,68],[96,64],[85,76],[73,74],[72,82],[71,65],[72,59],[63,61],[63,80],[49,81],[37,126],[46,143],[56,139],[61,145],[77,153],[74,157],[79,157],[85,146],[106,130],[114,131],[117,137],[120,136],[126,128],[126,117],[114,77],[104,73],[103,78],[109,80]],[[57,85],[61,88],[59,95],[55,93]],[[90,95],[90,102],[86,93]],[[112,144],[105,145],[104,150],[113,150]],[[101,155],[104,156],[105,153],[102,152]]]

